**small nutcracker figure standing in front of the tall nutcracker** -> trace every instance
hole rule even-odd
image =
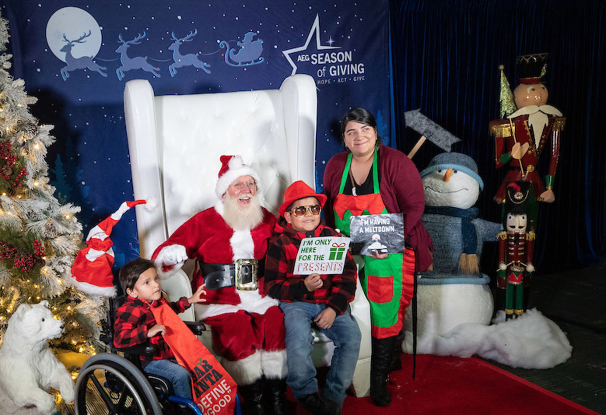
[[[505,189],[505,231],[498,236],[497,272],[498,289],[505,291],[505,320],[524,313],[524,282],[534,272],[534,238],[526,231],[532,197],[530,186],[527,181],[514,181]]]

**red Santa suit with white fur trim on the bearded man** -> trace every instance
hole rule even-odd
[[[242,175],[243,170],[235,171],[239,174],[237,177]],[[225,176],[219,176],[217,193],[221,195],[221,179],[228,180],[228,183],[233,181],[233,174]],[[227,265],[240,258],[262,261],[276,219],[267,209],[261,209],[263,218],[260,224],[250,230],[235,231],[224,220],[224,204],[219,201],[213,208],[182,224],[156,248],[151,259],[162,267],[163,273],[168,274],[175,272],[184,262],[166,266],[162,259],[166,256],[165,250],[174,249],[176,245],[183,246],[187,257],[199,263]],[[196,267],[193,288],[202,283],[204,278]],[[278,301],[263,292],[262,275],[259,275],[259,288],[254,291],[236,290],[235,286],[214,291],[207,288],[206,291],[202,298],[207,302],[196,305],[196,316],[210,325],[213,347],[223,357],[222,365],[238,385],[250,385],[262,376],[284,379],[287,374],[284,316],[278,308]]]

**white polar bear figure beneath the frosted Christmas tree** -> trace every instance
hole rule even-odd
[[[50,388],[58,390],[65,402],[72,402],[72,376],[48,348],[48,340],[61,337],[63,328],[63,322],[53,318],[47,301],[22,304],[10,317],[0,348],[2,414],[55,413]]]

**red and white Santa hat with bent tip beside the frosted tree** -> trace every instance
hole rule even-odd
[[[145,200],[125,201],[113,214],[88,232],[88,248],[81,249],[72,265],[70,282],[81,291],[93,295],[113,297],[116,288],[113,285],[112,266],[114,254],[110,239],[112,228],[122,218],[124,212]]]

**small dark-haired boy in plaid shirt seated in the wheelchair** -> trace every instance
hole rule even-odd
[[[163,325],[156,324],[150,307],[158,303],[170,304],[178,314],[190,308],[193,303],[204,302],[200,295],[205,293],[204,285],[190,297],[181,297],[178,301],[168,303],[162,298],[160,277],[153,261],[137,258],[120,269],[118,276],[122,291],[127,294],[126,301],[116,310],[114,323],[114,345],[124,348],[151,343],[156,348],[155,356],[141,356],[141,365],[147,373],[156,374],[170,380],[176,396],[191,399],[191,376],[187,369],[176,363],[162,334],[166,332]]]

